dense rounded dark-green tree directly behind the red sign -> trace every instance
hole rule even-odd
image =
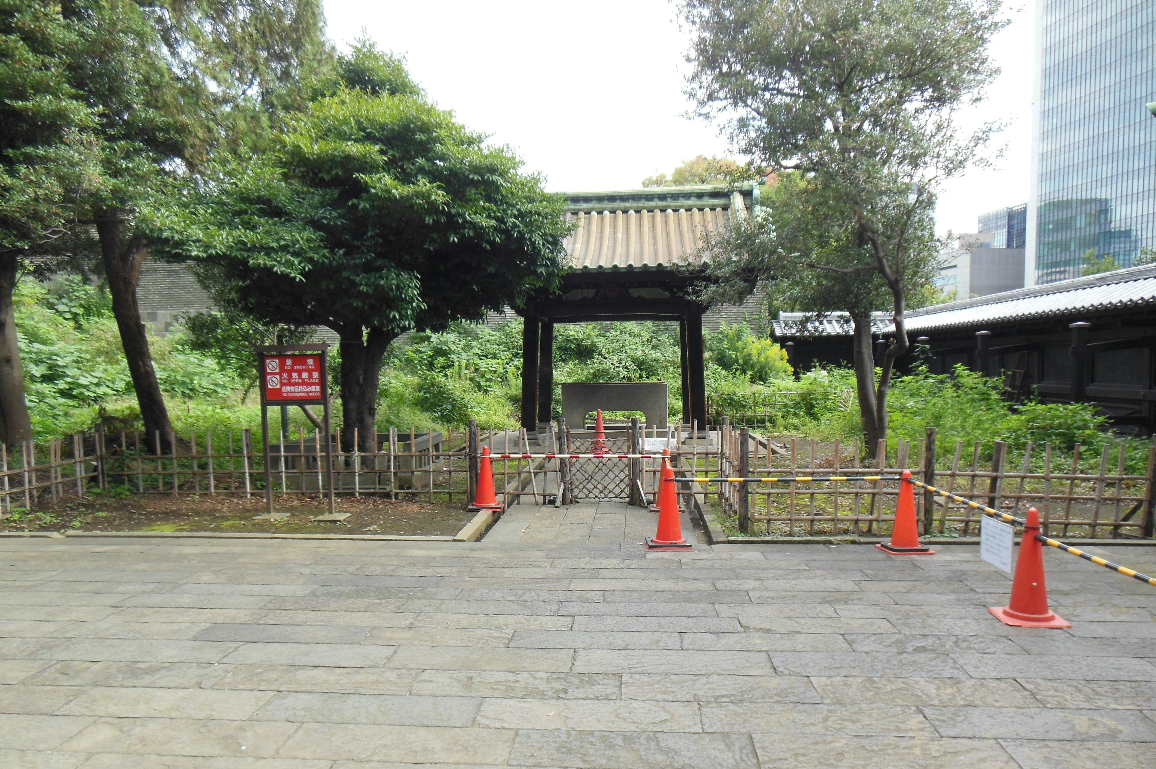
[[[392,57],[361,44],[338,72],[350,82],[290,118],[271,151],[158,205],[148,234],[231,305],[334,330],[342,439],[356,429],[373,450],[390,342],[553,287],[566,225],[539,177],[427,102]]]

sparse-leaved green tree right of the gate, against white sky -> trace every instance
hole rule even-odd
[[[909,347],[904,312],[928,278],[936,186],[993,130],[959,136],[953,117],[996,73],[987,46],[1003,24],[999,8],[1000,0],[682,3],[697,30],[689,89],[701,113],[726,120],[754,162],[799,172],[777,197],[798,221],[771,214],[736,228],[765,228],[762,237],[717,239],[719,274],[731,293],[777,279],[771,295],[783,304],[851,312],[872,449],[887,435],[887,391]],[[883,306],[895,337],[876,379],[870,311]]]

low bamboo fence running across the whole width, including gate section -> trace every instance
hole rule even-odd
[[[524,430],[398,430],[378,435],[377,451],[341,450],[341,434],[333,441],[334,490],[343,496],[386,496],[436,504],[465,505],[473,501],[482,446],[494,453],[560,453],[584,449],[593,441],[588,430],[562,431],[553,427],[529,441]],[[357,445],[354,436],[353,445]],[[624,438],[624,441],[622,441]],[[979,443],[957,443],[950,457],[936,460],[934,431],[914,443],[901,441],[889,452],[881,444],[877,459],[864,460],[862,446],[832,442],[788,439],[736,428],[727,419],[707,430],[697,424],[668,429],[609,428],[608,441],[633,453],[651,453],[657,441],[669,446],[675,472],[684,476],[732,478],[796,474],[839,475],[846,481],[777,485],[711,483],[679,486],[684,503],[691,495],[718,503],[721,517],[747,534],[784,537],[865,534],[887,535],[895,516],[896,481],[855,480],[864,475],[898,475],[903,469],[926,483],[988,506],[1023,515],[1039,509],[1045,534],[1119,538],[1153,535],[1156,448],[1149,450],[1147,472],[1126,472],[1124,448],[1104,446],[1095,461],[1076,446],[1060,456],[1051,444],[1029,444],[1014,466],[1008,449],[996,442],[993,457],[981,459]],[[271,441],[269,481],[273,493],[317,495],[325,488],[325,444],[313,431],[298,431]],[[265,460],[251,430],[191,432],[160,448],[140,432],[84,435],[0,444],[0,513],[18,508],[55,505],[83,498],[95,489],[138,495],[245,495],[265,493]],[[645,451],[644,451],[644,448]],[[659,449],[660,451],[660,449]],[[628,463],[625,472],[598,476],[581,487],[584,460],[497,459],[492,464],[499,501],[566,504],[587,498],[622,498],[650,503],[657,495],[660,460],[593,460]],[[588,466],[587,461],[587,466]],[[1089,469],[1091,468],[1091,469]],[[610,482],[608,479],[613,479]],[[591,491],[590,489],[593,489]],[[980,513],[944,497],[917,494],[924,534],[976,537]]]

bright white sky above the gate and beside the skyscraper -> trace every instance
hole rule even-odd
[[[949,183],[938,229],[969,232],[976,217],[1028,200],[1032,3],[1011,0],[995,40],[1003,69],[966,125],[1007,120],[1006,158]],[[403,54],[414,77],[470,128],[512,146],[555,191],[622,190],[698,154],[724,155],[717,126],[683,117],[689,31],[668,0],[325,0],[339,44],[362,30]]]

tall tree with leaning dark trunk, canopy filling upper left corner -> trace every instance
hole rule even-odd
[[[0,247],[20,258],[67,241],[99,253],[146,430],[166,450],[172,428],[136,302],[140,205],[175,193],[215,151],[261,146],[325,58],[320,5],[6,0],[0,25]],[[0,304],[7,290],[0,274]],[[10,378],[0,371],[0,390]]]

